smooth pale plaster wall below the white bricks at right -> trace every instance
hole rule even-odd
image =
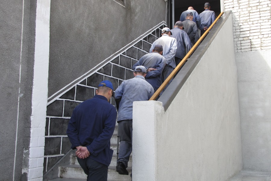
[[[244,169],[271,171],[271,49],[236,53]]]

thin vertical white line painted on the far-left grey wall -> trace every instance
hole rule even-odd
[[[24,18],[24,0],[22,10],[22,30],[21,30],[21,49],[20,49],[20,71],[19,71],[19,85],[21,84],[21,70],[22,70],[22,53],[23,53],[23,18]],[[17,141],[18,141],[18,122],[19,122],[19,106],[21,97],[21,87],[19,87],[18,93],[18,107],[17,107],[17,121],[16,121],[16,137],[15,137],[15,153],[14,153],[14,165],[13,165],[13,181],[15,180],[15,165],[16,165],[16,154],[17,154]]]

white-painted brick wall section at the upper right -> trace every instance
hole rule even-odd
[[[235,52],[271,49],[271,0],[226,0],[233,13]]]

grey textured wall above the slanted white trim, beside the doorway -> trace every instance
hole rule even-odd
[[[165,20],[164,0],[51,1],[48,97]]]

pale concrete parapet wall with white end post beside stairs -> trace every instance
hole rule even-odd
[[[167,110],[134,103],[133,180],[222,181],[242,169],[231,27],[229,17]]]

